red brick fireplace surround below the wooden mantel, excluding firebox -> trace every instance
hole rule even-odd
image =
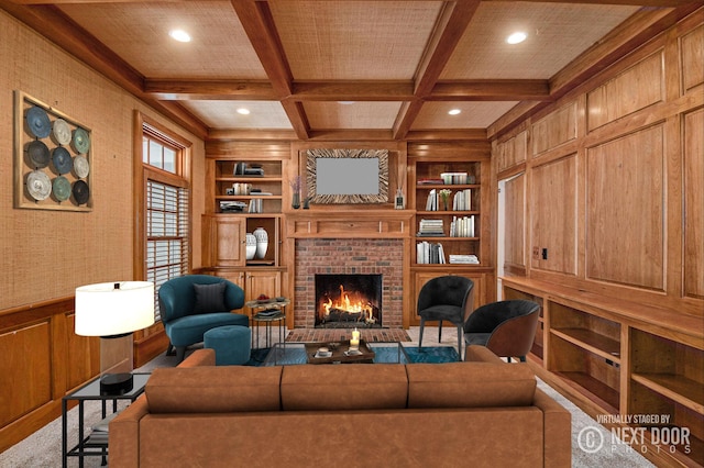
[[[297,238],[294,326],[316,323],[316,274],[382,274],[383,326],[403,327],[403,254],[398,238]]]

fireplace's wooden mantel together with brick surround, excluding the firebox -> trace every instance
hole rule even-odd
[[[286,235],[293,314],[287,325],[316,326],[316,275],[381,275],[384,328],[404,328],[411,309],[413,213],[407,210],[297,210],[287,215]]]

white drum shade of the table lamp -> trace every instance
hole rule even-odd
[[[76,288],[77,335],[120,335],[153,323],[153,282],[101,282]]]

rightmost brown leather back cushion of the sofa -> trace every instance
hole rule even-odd
[[[408,364],[408,408],[530,405],[536,377],[526,364]]]

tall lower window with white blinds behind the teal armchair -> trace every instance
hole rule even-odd
[[[188,190],[147,179],[146,280],[155,291],[168,279],[188,272]],[[156,320],[160,320],[155,300]]]

